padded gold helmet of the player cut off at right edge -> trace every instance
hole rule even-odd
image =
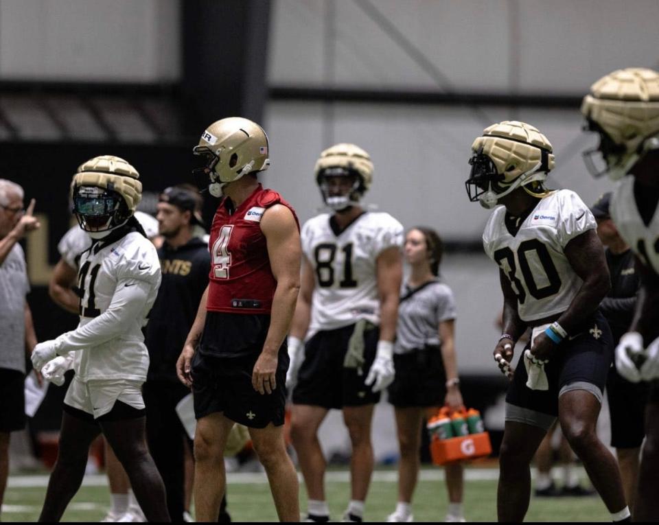
[[[588,171],[612,180],[625,176],[645,152],[659,148],[659,73],[629,67],[606,75],[590,86],[581,113],[600,136],[597,148],[583,152]]]

